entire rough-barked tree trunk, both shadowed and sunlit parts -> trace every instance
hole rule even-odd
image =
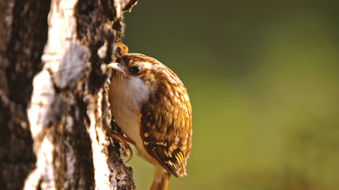
[[[135,189],[105,134],[106,63],[135,3],[0,2],[0,189]]]

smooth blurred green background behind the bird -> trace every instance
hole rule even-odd
[[[184,82],[188,176],[169,189],[339,189],[339,1],[139,0],[124,44]],[[137,189],[153,167],[134,156]]]

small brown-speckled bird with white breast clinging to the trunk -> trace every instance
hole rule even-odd
[[[150,190],[166,190],[169,177],[186,175],[191,152],[187,90],[166,65],[140,53],[124,53],[108,67],[110,109],[125,135],[113,136],[133,144],[138,156],[155,166]]]

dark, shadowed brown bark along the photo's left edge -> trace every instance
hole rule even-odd
[[[42,70],[49,6],[50,1],[0,2],[0,189],[22,189],[35,167],[26,108],[33,77]]]

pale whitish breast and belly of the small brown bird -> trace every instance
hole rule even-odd
[[[141,106],[148,101],[149,93],[148,86],[138,77],[114,76],[109,84],[109,103],[117,125],[136,142],[138,155],[155,165],[157,161],[143,147],[138,121]]]

